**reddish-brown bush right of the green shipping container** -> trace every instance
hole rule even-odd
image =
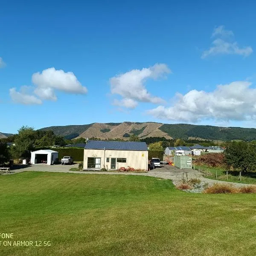
[[[207,165],[212,167],[219,167],[224,165],[224,154],[223,153],[209,153],[198,157],[195,161],[197,165]]]

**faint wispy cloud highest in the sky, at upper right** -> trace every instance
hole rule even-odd
[[[218,38],[212,42],[212,47],[203,52],[201,58],[218,54],[235,54],[244,57],[249,56],[253,52],[252,47],[239,47],[239,44],[233,40],[233,35],[234,33],[230,30],[225,30],[224,26],[216,27],[212,32],[212,37],[218,36]]]

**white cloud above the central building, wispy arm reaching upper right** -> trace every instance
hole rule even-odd
[[[157,79],[171,73],[166,64],[154,64],[152,67],[116,75],[110,79],[111,93],[123,97],[121,100],[126,108],[135,108],[137,102],[163,103],[163,99],[152,96],[145,87],[147,79]],[[116,104],[118,101],[115,101]],[[114,102],[114,103],[115,103]],[[136,105],[135,105],[136,102]],[[120,103],[120,101],[119,101]],[[115,104],[115,105],[116,105]]]

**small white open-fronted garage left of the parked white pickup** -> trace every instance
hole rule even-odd
[[[41,149],[31,152],[31,164],[54,164],[58,159],[58,152],[50,149]]]

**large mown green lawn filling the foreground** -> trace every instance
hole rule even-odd
[[[145,176],[1,175],[0,233],[51,246],[1,245],[0,255],[256,255],[255,199],[181,192]]]

